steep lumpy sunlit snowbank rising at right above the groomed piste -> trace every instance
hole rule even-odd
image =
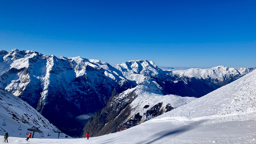
[[[256,117],[256,70],[191,103],[167,113],[172,120],[213,122],[254,120]],[[158,119],[164,116],[159,116]],[[157,120],[157,119],[155,119]]]

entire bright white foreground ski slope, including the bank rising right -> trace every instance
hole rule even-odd
[[[256,71],[138,126],[100,137],[17,144],[256,144]],[[0,138],[3,139],[3,136]]]

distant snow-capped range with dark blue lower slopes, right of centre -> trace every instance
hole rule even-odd
[[[237,80],[255,69],[255,67],[228,68],[218,66],[210,69],[191,68],[163,71],[152,61],[146,60],[128,61],[113,67],[122,71],[126,79],[136,81],[137,84],[142,82],[144,77],[151,79],[158,84],[159,89],[165,95],[175,94],[197,98]]]

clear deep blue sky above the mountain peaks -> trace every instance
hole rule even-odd
[[[256,0],[1,0],[0,49],[256,67]]]

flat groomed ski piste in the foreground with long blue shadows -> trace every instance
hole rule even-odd
[[[202,125],[204,121],[145,122],[121,132],[78,139],[39,139],[9,137],[15,144],[246,144],[256,143],[256,121],[223,122]],[[0,136],[3,140],[3,136]]]

